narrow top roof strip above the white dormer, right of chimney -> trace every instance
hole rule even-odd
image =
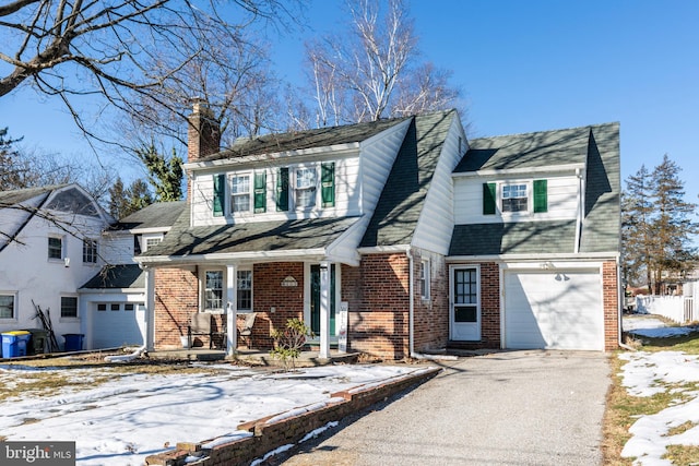
[[[405,121],[405,119],[406,118],[393,118],[365,123],[346,124],[342,127],[319,128],[315,130],[281,134],[264,134],[253,139],[241,138],[238,139],[229,148],[202,157],[199,160],[218,160],[249,155],[274,154],[285,151],[301,151],[306,148],[362,142],[401,123],[402,121]]]

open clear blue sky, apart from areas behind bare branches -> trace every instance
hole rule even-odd
[[[337,29],[342,0],[313,0],[309,26],[273,45],[277,72],[301,81],[303,43]],[[412,0],[422,58],[453,71],[472,136],[619,121],[623,178],[667,153],[699,199],[699,2],[694,0]],[[0,99],[0,127],[66,155],[88,153],[57,104]]]

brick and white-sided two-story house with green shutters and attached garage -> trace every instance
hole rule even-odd
[[[210,313],[236,348],[300,318],[387,359],[618,338],[618,126],[475,140],[455,111],[236,142],[190,118],[188,203],[146,271],[150,347]],[[554,289],[552,284],[560,285]]]

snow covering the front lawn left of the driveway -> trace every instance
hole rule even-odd
[[[245,421],[327,402],[330,394],[424,370],[410,366],[328,366],[272,373],[228,365],[215,374],[129,374],[110,368],[0,366],[0,386],[37,373],[105,383],[0,402],[0,435],[9,441],[75,441],[78,465],[142,465],[177,442],[248,435]]]

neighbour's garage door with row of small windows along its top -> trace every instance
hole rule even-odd
[[[116,348],[121,345],[143,345],[138,319],[143,304],[133,302],[99,302],[93,309],[93,348]]]

